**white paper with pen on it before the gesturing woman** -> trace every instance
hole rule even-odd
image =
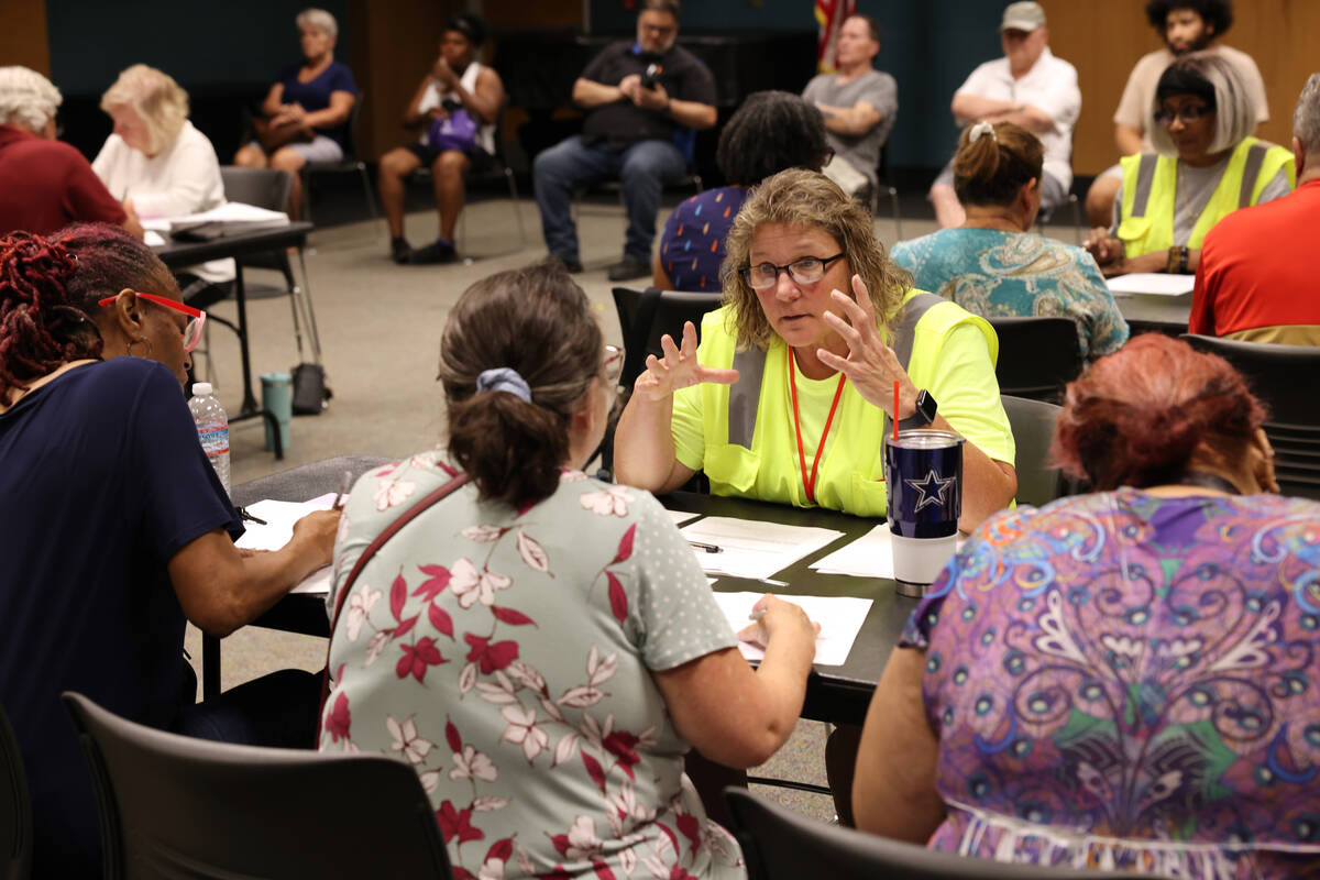
[[[841,537],[833,529],[708,516],[682,529],[689,541],[714,544],[719,553],[694,550],[706,574],[762,581]]]

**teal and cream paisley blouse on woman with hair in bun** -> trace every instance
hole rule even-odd
[[[974,315],[1072,318],[1088,360],[1127,342],[1127,322],[1096,260],[1071,244],[1034,232],[940,230],[899,241],[890,256],[920,290]]]

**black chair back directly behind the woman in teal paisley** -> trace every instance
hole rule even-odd
[[[1077,325],[1071,318],[986,318],[999,336],[999,393],[1052,404],[1082,367]]]

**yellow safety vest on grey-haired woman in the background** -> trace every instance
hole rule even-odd
[[[1168,251],[1173,241],[1173,198],[1177,190],[1177,158],[1155,153],[1125,156],[1123,208],[1118,223],[1118,237],[1123,241],[1123,255],[1139,257],[1143,253]],[[1280,168],[1288,170],[1288,183],[1296,186],[1296,162],[1292,153],[1247,137],[1229,157],[1210,201],[1192,228],[1188,248],[1199,249],[1205,234],[1216,223],[1238,208],[1255,204],[1261,190],[1274,179]]]

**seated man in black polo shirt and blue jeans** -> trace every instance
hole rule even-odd
[[[651,274],[651,241],[667,179],[681,177],[693,131],[715,124],[715,82],[678,36],[677,0],[642,0],[636,42],[607,46],[573,83],[587,111],[582,135],[536,157],[536,204],[550,256],[581,272],[573,191],[618,178],[628,211],[623,261],[611,281]]]

